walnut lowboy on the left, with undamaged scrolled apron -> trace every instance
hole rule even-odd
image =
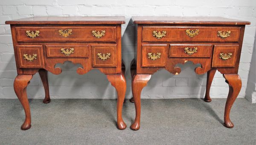
[[[55,65],[65,61],[81,64],[76,71],[78,74],[99,69],[107,75],[118,94],[117,128],[126,128],[122,119],[126,91],[125,67],[121,59],[124,20],[124,17],[32,17],[6,21],[11,24],[17,65],[14,89],[26,114],[22,130],[31,127],[26,87],[32,76],[39,73],[45,89],[43,102],[49,103],[47,71],[61,74],[61,68]]]

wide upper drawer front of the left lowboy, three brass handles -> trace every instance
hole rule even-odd
[[[116,42],[116,27],[16,27],[18,42]]]

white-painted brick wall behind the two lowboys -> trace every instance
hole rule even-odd
[[[239,74],[243,86],[239,97],[245,97],[250,62],[256,32],[256,0],[1,0],[0,1],[0,98],[16,98],[13,79],[16,66],[10,27],[6,20],[32,16],[116,16],[124,15],[122,26],[122,59],[126,65],[127,93],[131,97],[131,76],[129,66],[134,58],[134,25],[131,16],[220,16],[251,22],[246,26],[241,54]],[[128,24],[129,23],[129,24]],[[254,63],[255,65],[255,63]],[[206,74],[196,75],[196,65],[188,62],[179,65],[180,75],[165,70],[152,75],[142,91],[142,98],[192,98],[204,97]],[[52,98],[116,98],[116,92],[105,75],[97,70],[85,75],[76,74],[77,65],[61,65],[61,75],[49,74]],[[247,87],[247,82],[249,83]],[[220,73],[212,83],[212,98],[227,97],[228,85]],[[43,98],[44,89],[38,74],[28,87],[29,98]],[[250,98],[249,98],[250,99]]]

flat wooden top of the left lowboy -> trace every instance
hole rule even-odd
[[[6,21],[6,24],[124,24],[125,17],[27,17]]]

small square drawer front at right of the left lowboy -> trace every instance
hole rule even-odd
[[[116,67],[116,44],[91,45],[93,67],[115,68]]]

